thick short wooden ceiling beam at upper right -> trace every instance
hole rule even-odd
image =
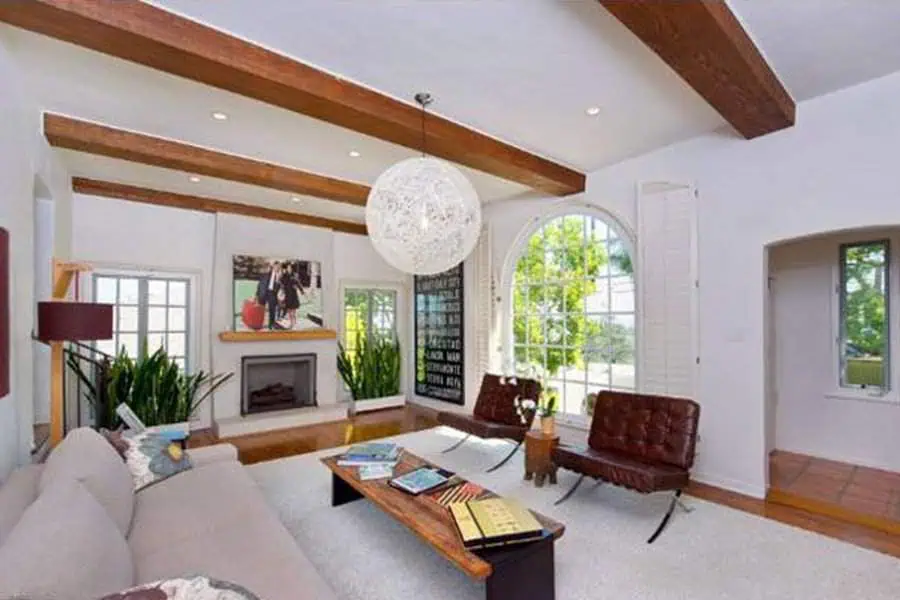
[[[599,0],[751,139],[794,124],[793,98],[724,0]]]

